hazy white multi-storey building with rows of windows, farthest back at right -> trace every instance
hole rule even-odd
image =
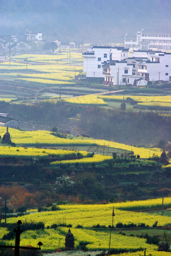
[[[124,45],[130,50],[170,50],[171,32],[142,29],[136,35],[126,34]]]

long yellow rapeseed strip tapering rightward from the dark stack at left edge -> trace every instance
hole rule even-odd
[[[0,126],[0,135],[3,136],[6,128]],[[12,142],[16,144],[22,144],[28,147],[35,146],[36,144],[40,144],[42,146],[84,146],[84,145],[100,145],[100,146],[109,146],[112,148],[120,148],[124,150],[131,150],[135,155],[140,155],[141,158],[148,158],[153,154],[160,156],[162,150],[160,148],[138,148],[130,145],[126,145],[123,143],[117,143],[108,140],[96,140],[93,138],[86,138],[84,140],[78,138],[58,138],[50,134],[49,131],[19,131],[17,129],[9,129],[9,132],[12,136]]]

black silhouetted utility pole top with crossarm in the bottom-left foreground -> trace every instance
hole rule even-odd
[[[12,245],[0,245],[0,248],[4,248],[3,251],[1,252],[1,255],[3,255],[5,248],[14,248],[14,256],[19,256],[19,250],[20,249],[34,250],[34,251],[41,250],[41,245],[42,245],[41,242],[38,243],[39,247],[28,247],[28,246],[20,246],[19,245],[19,243],[20,243],[20,234],[23,232],[20,229],[21,224],[22,224],[21,220],[18,220],[17,226],[13,231],[13,232],[15,232],[15,245],[14,246],[12,246]],[[33,255],[34,255],[34,253],[33,253]]]

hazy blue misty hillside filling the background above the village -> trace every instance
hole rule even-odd
[[[44,39],[123,42],[138,29],[170,31],[170,0],[1,0],[1,34],[42,32]]]

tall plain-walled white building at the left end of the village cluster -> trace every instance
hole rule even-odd
[[[84,72],[86,77],[104,77],[102,65],[110,60],[124,60],[128,58],[129,49],[124,47],[92,46],[83,53]]]

